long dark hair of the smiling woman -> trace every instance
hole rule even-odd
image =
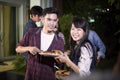
[[[80,47],[86,41],[88,41],[89,25],[84,17],[78,17],[78,16],[75,16],[72,19],[71,25],[72,24],[74,24],[74,26],[76,28],[82,28],[83,31],[85,32],[85,35],[82,37],[79,44],[77,44],[77,45],[76,45],[76,42],[72,39],[72,37],[70,37],[70,50],[71,50],[70,58],[75,64],[78,64],[78,59],[81,55],[80,54],[81,53]]]

